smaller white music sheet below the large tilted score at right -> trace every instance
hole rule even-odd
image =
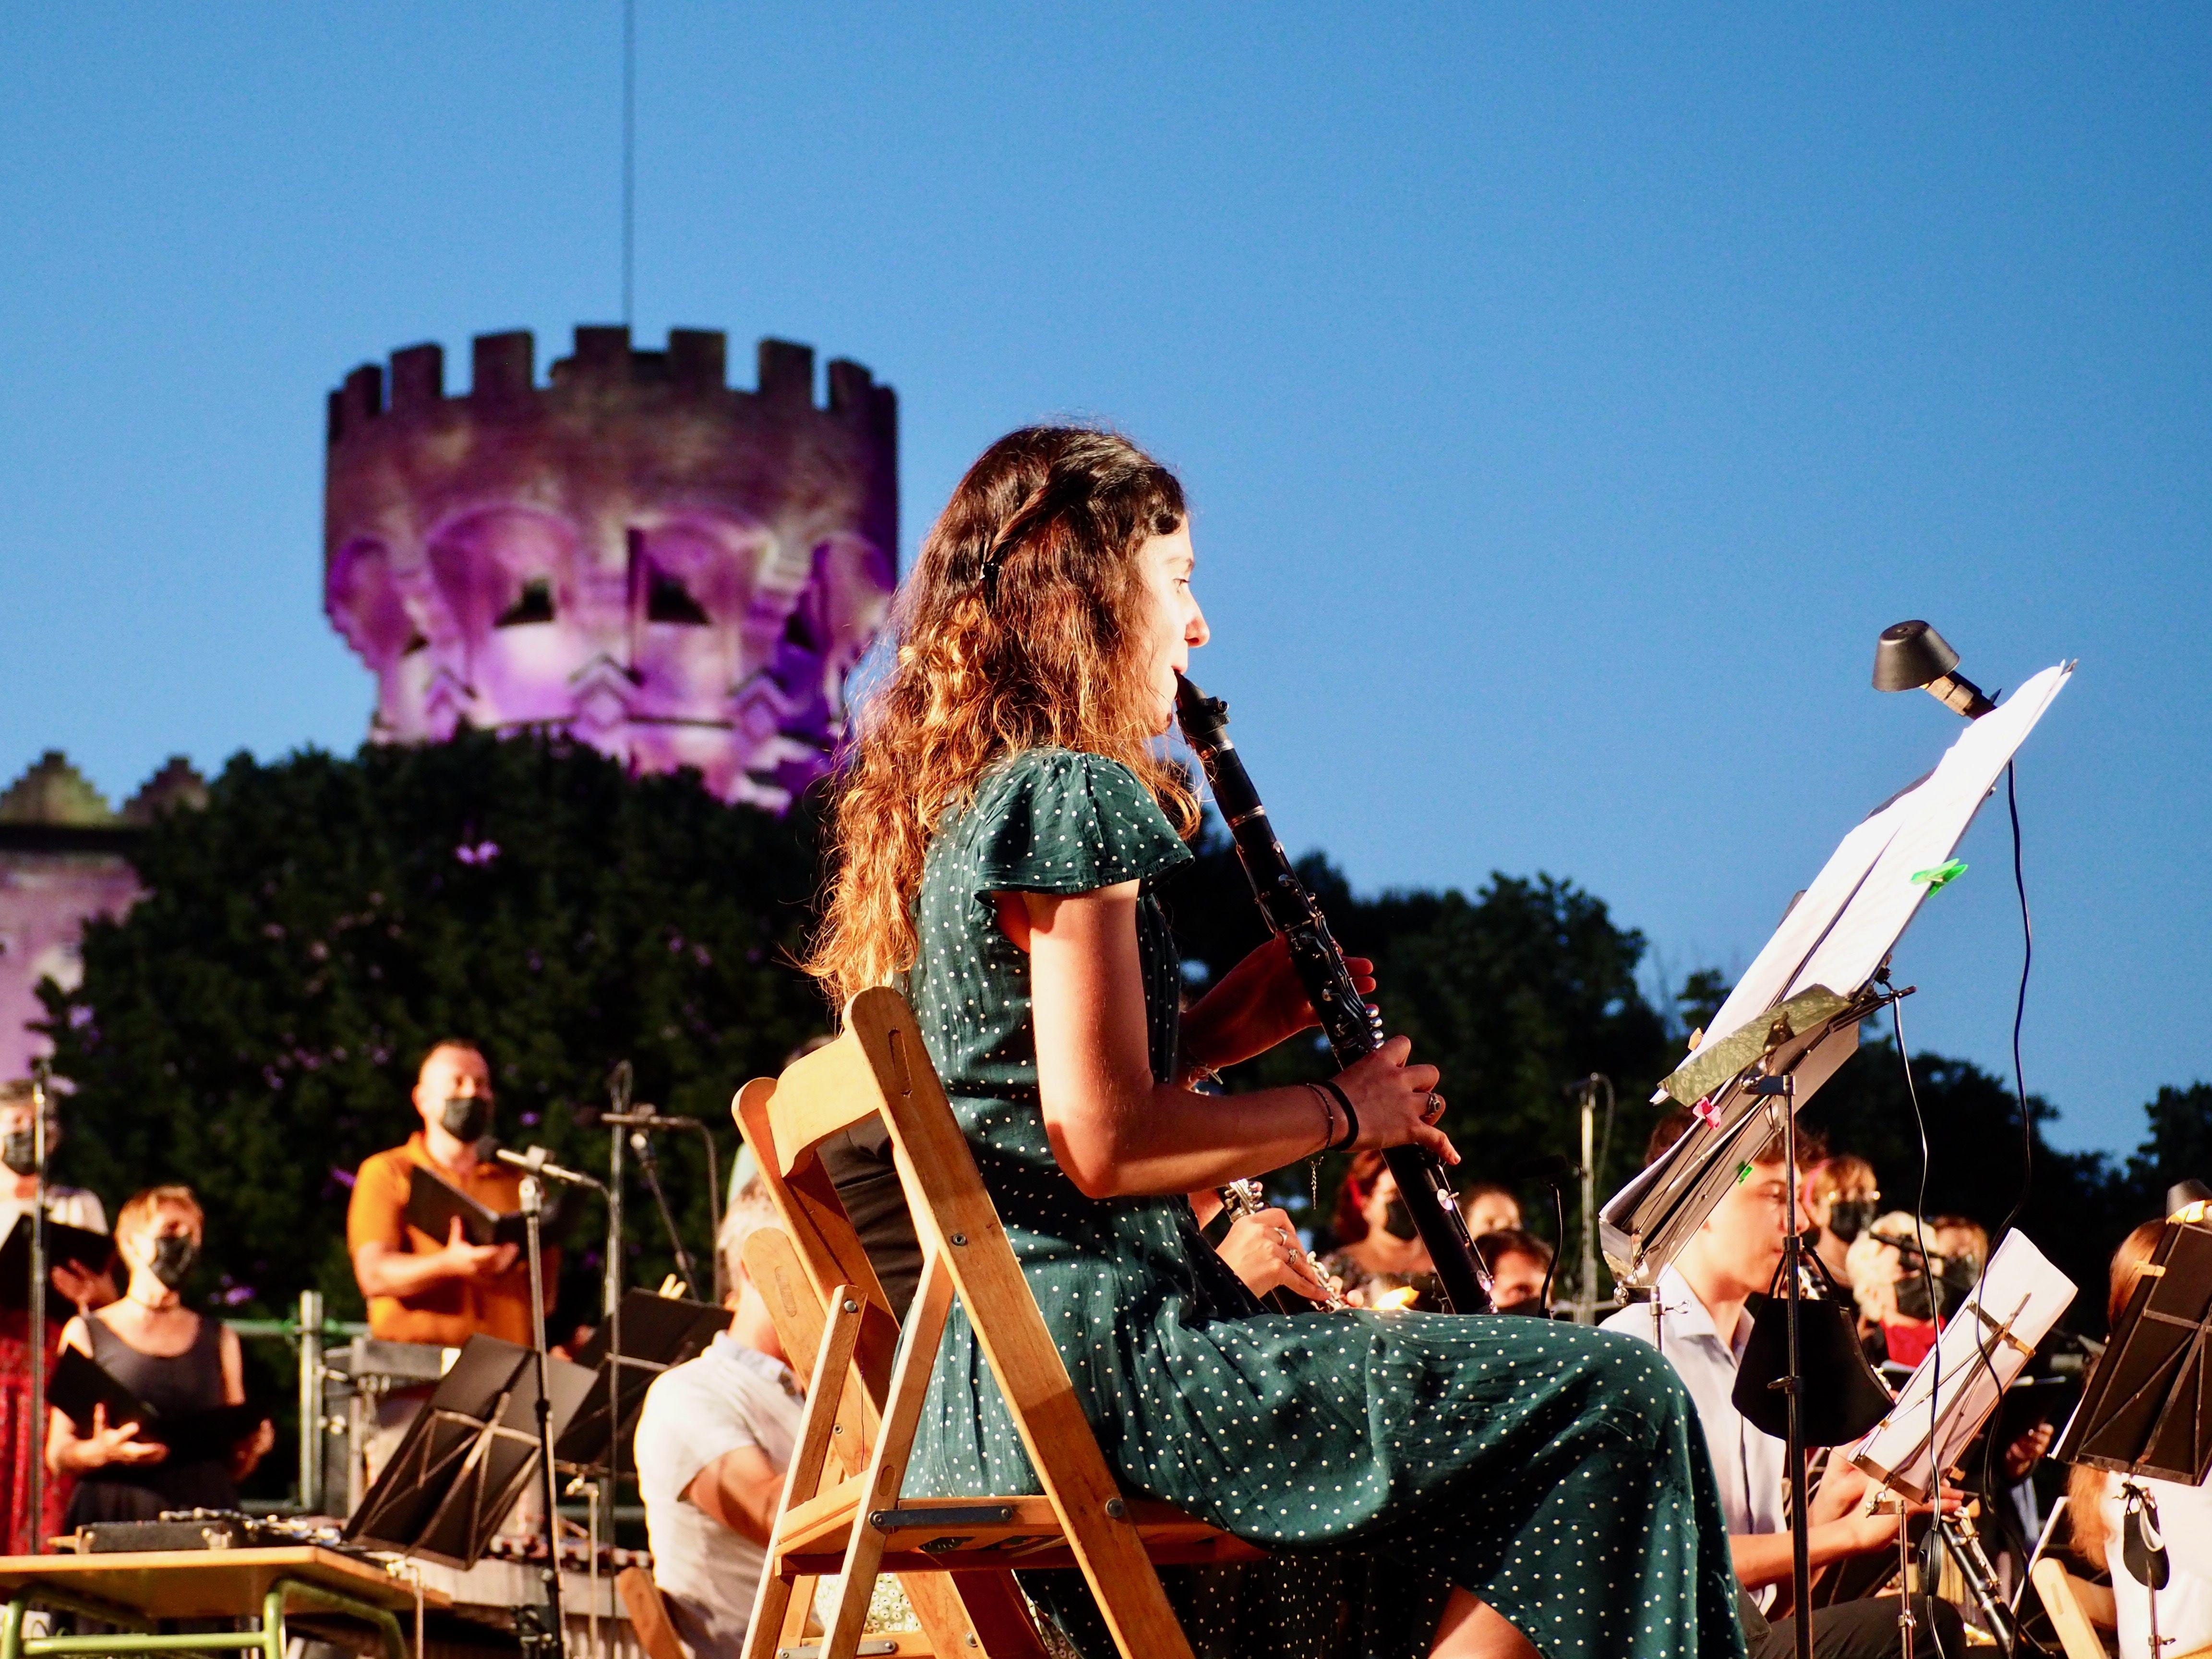
[[[1951,1316],[1942,1338],[1898,1389],[1889,1416],[1851,1449],[1851,1462],[1916,1504],[1927,1502],[1936,1484],[1931,1469],[1949,1469],[1980,1433],[1997,1398],[2026,1367],[2028,1352],[2044,1340],[2073,1298],[2075,1283],[2044,1259],[2028,1234],[2013,1228],[1991,1256],[1973,1296]],[[1938,1453],[1933,1464],[1931,1398]]]

